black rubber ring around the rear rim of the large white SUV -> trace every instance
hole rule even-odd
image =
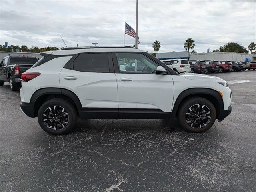
[[[44,124],[44,118],[43,118],[43,114],[44,111],[49,107],[49,106],[53,106],[53,105],[57,105],[57,106],[61,106],[63,107],[66,112],[68,113],[68,125],[61,130],[52,130],[50,128],[48,128],[45,124]],[[77,114],[76,114],[76,109],[74,108],[74,106],[68,102],[67,100],[63,100],[63,99],[51,99],[46,101],[44,104],[42,104],[42,106],[39,108],[38,110],[38,123],[41,126],[41,128],[45,131],[48,132],[52,135],[61,135],[61,134],[66,134],[68,132],[70,132],[75,123],[76,123],[76,119],[77,119]]]

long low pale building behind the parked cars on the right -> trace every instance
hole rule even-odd
[[[157,53],[156,58],[165,59],[186,59],[187,51]],[[247,58],[247,60],[246,60]],[[231,61],[250,61],[256,60],[256,54],[232,53],[232,52],[210,52],[210,53],[190,53],[189,60],[231,60]]]

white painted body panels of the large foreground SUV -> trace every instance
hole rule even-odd
[[[55,55],[69,55],[80,52],[108,52],[116,48],[77,49],[54,51]],[[133,48],[118,48],[118,51],[142,52]],[[63,66],[71,56],[58,57],[27,72],[40,72],[41,75],[22,82],[20,95],[22,102],[30,102],[32,94],[41,88],[66,88],[74,92],[83,107],[90,108],[148,108],[172,112],[178,96],[189,88],[209,88],[221,91],[224,95],[224,110],[231,105],[231,90],[219,82],[221,78],[201,75],[156,75],[156,74],[121,74],[79,72],[64,69]],[[189,65],[189,64],[188,64]],[[191,68],[190,68],[191,70]],[[182,72],[182,71],[180,71]],[[66,80],[68,76],[77,79]],[[131,81],[121,81],[130,78]]]

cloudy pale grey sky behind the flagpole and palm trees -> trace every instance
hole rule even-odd
[[[248,47],[256,42],[256,1],[138,0],[140,49],[184,51],[185,39],[195,51],[214,50],[227,42]],[[135,30],[136,0],[0,0],[0,44],[31,46],[123,45],[125,21]],[[125,35],[125,44],[135,39]]]

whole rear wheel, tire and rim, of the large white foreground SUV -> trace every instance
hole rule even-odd
[[[37,119],[39,125],[45,132],[52,135],[62,135],[70,132],[74,128],[77,112],[74,105],[69,101],[55,98],[44,102],[40,106]]]

